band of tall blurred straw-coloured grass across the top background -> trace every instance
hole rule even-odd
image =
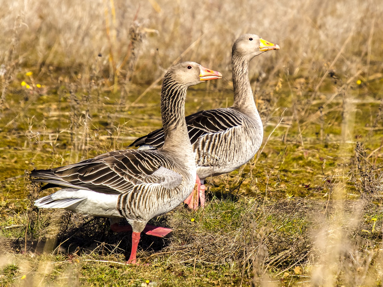
[[[0,55],[12,79],[23,67],[33,67],[38,80],[47,76],[49,68],[79,71],[101,53],[103,75],[114,91],[118,78],[151,83],[161,68],[169,67],[203,34],[203,40],[180,60],[211,64],[222,71],[226,82],[217,85],[229,83],[231,45],[243,33],[259,34],[281,46],[278,53],[257,57],[252,75],[303,77],[317,91],[330,70],[354,75],[364,68],[367,77],[380,68],[379,0],[4,0],[2,7]],[[134,75],[131,64],[126,65],[138,52],[132,25],[146,34]]]

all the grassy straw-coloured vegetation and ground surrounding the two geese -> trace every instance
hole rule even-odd
[[[381,286],[383,5],[331,1],[13,1],[0,10],[0,286]],[[159,84],[193,60],[224,78],[187,113],[230,106],[231,45],[264,122],[254,160],[208,179],[208,203],[131,237],[36,210],[25,171],[126,147],[160,127]],[[51,191],[48,191],[51,192]],[[121,222],[123,223],[123,222]]]

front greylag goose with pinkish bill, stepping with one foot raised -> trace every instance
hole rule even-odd
[[[195,185],[196,166],[185,122],[187,88],[221,77],[221,73],[195,62],[170,68],[161,88],[162,148],[118,150],[68,166],[33,170],[34,181],[47,183],[43,189],[63,188],[36,200],[34,205],[109,217],[112,230],[133,230],[127,263],[136,264],[140,233],[164,236],[170,230],[146,223],[177,207]],[[131,228],[119,226],[121,218]]]

